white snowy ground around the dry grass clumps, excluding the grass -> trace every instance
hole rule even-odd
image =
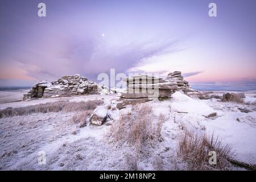
[[[246,101],[255,101],[254,93],[246,93]],[[117,99],[117,94],[109,96],[80,96],[67,98],[47,98],[32,101],[0,104],[6,107],[22,107],[59,100],[86,101],[103,99],[108,105]],[[1,102],[0,102],[1,103]],[[175,165],[177,138],[182,130],[196,133],[207,132],[218,135],[224,143],[232,144],[236,151],[234,158],[256,164],[256,106],[220,102],[216,99],[197,100],[176,92],[170,100],[147,102],[153,108],[155,117],[165,115],[162,128],[163,142],[156,144],[147,158],[138,166],[142,170],[157,169],[155,159],[161,158],[163,170],[183,169]],[[251,110],[241,113],[238,107]],[[68,121],[76,113],[46,113],[0,118],[0,169],[32,170],[122,170],[125,156],[133,155],[129,147],[118,147],[108,140],[108,131],[116,122],[119,110],[109,110],[113,122],[102,126],[87,125],[79,128]],[[122,111],[122,110],[121,110]],[[217,113],[214,118],[204,115]],[[239,119],[237,119],[239,118]],[[239,121],[237,121],[239,120]],[[46,165],[38,164],[40,151],[46,152]],[[238,169],[238,168],[234,168]]]

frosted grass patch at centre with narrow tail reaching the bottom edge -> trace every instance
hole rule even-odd
[[[152,108],[146,104],[134,105],[130,113],[121,113],[110,129],[110,140],[119,146],[127,145],[133,150],[126,156],[126,169],[137,169],[138,162],[150,155],[152,148],[162,141],[161,130],[164,115],[155,118]]]

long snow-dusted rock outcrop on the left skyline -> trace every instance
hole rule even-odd
[[[39,81],[24,94],[23,100],[51,96],[98,94],[104,87],[80,75],[63,76],[56,81]]]

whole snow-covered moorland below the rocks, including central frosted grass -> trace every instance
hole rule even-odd
[[[2,115],[0,169],[197,169],[191,168],[191,161],[184,160],[184,156],[179,154],[180,138],[185,131],[197,136],[213,135],[223,147],[226,144],[232,147],[229,158],[253,168],[256,165],[255,95],[246,93],[245,102],[238,104],[216,98],[199,100],[175,92],[167,100],[127,105],[120,110],[115,107],[119,94],[1,103],[0,109],[9,107],[10,112],[14,112],[15,108],[39,107],[38,104],[51,105],[59,101],[79,103],[101,100],[97,105],[105,108],[108,118],[98,126],[89,121],[89,115],[84,114],[81,119],[86,118],[86,126],[81,127],[79,122],[74,122],[74,115],[81,114],[81,111],[75,110]],[[89,114],[92,112],[88,111]],[[39,162],[42,151],[46,154],[46,164]],[[225,162],[224,168],[203,163],[203,169],[250,169],[230,160]]]

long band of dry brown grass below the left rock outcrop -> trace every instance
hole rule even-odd
[[[26,107],[8,107],[0,110],[0,118],[2,117],[14,117],[17,115],[28,115],[33,113],[57,113],[59,111],[73,112],[93,110],[96,106],[103,104],[102,100],[81,101],[81,102],[47,102],[46,104],[38,104]]]

